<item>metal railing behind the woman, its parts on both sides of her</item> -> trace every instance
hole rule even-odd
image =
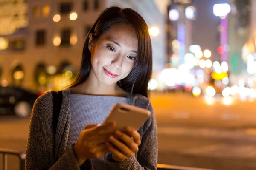
[[[3,155],[3,170],[8,170],[7,168],[7,158],[8,155],[17,156],[20,159],[20,170],[25,170],[25,153],[18,152],[15,150],[0,149],[0,155]],[[194,167],[181,167],[167,164],[157,164],[157,170],[210,170]]]

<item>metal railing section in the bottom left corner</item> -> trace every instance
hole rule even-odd
[[[8,155],[17,156],[20,159],[20,170],[25,170],[25,153],[15,150],[0,149],[0,155],[3,155],[3,170],[8,170]]]

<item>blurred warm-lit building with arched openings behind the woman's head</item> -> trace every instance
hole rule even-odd
[[[144,17],[149,27],[159,28],[160,33],[151,38],[153,71],[160,71],[165,65],[165,15],[156,5],[157,0],[16,1],[25,4],[26,11],[22,14],[26,14],[29,24],[15,25],[15,32],[0,34],[1,85],[39,91],[69,85],[78,71],[87,32],[101,11],[111,5],[131,7]],[[0,21],[4,17],[0,15]]]

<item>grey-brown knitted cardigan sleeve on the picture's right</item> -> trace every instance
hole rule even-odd
[[[122,162],[113,160],[109,154],[109,162],[113,170],[157,170],[157,126],[154,110],[148,99],[148,110],[151,116],[143,125],[143,135],[137,159],[135,154]]]

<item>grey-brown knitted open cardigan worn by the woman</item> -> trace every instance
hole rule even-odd
[[[71,125],[70,89],[63,91],[63,102],[54,138],[52,128],[53,101],[47,92],[40,96],[32,110],[29,137],[26,148],[26,170],[95,170],[96,165],[87,159],[79,167],[73,146],[68,147]],[[111,153],[106,154],[102,170],[157,170],[157,127],[151,102],[145,96],[127,96],[128,104],[151,111],[151,116],[138,130],[141,136],[139,151],[122,162],[113,161]]]

